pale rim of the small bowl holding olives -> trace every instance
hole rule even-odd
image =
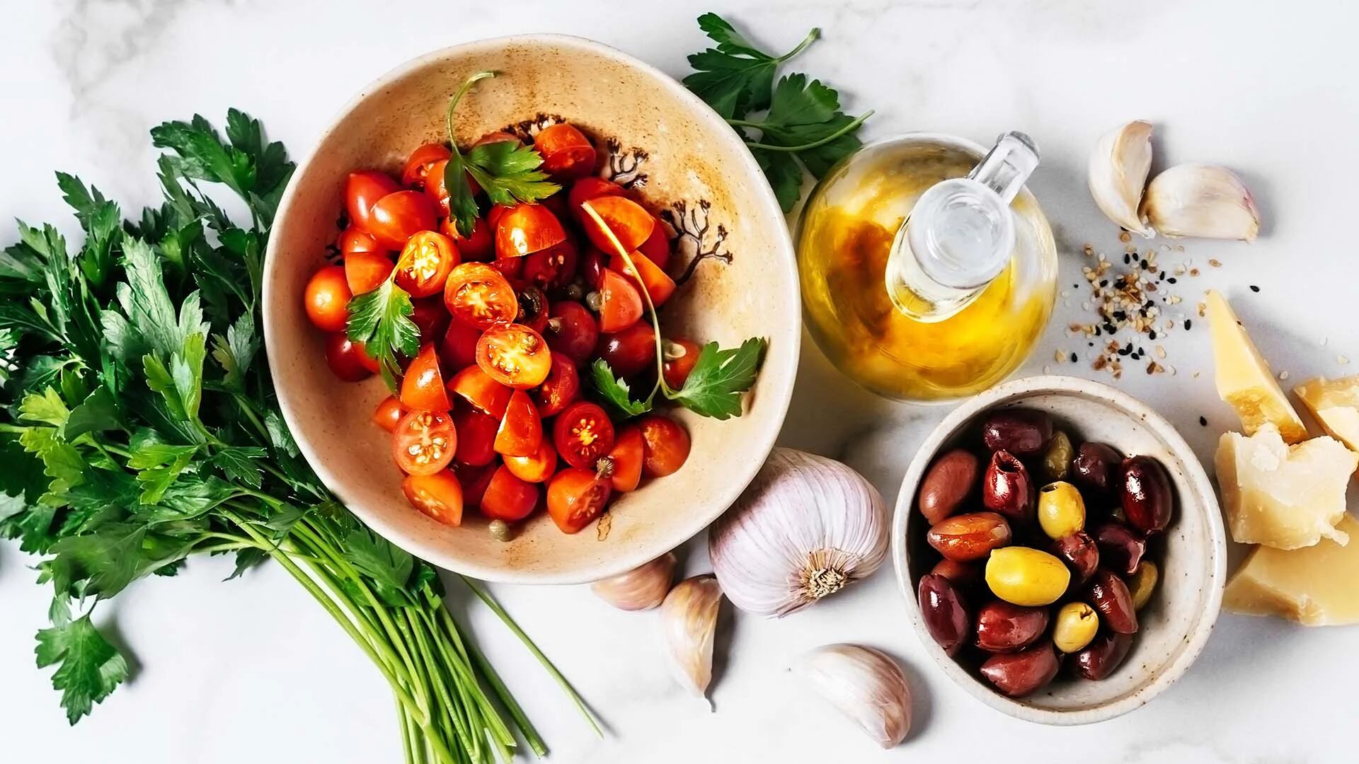
[[[932,462],[943,442],[966,420],[977,416],[985,409],[1034,393],[1074,393],[1105,400],[1110,405],[1124,411],[1127,415],[1140,420],[1144,427],[1151,430],[1154,435],[1166,443],[1170,453],[1180,458],[1180,461],[1185,465],[1185,480],[1189,481],[1195,493],[1205,500],[1203,513],[1207,519],[1207,552],[1210,553],[1211,560],[1208,574],[1203,582],[1208,598],[1204,612],[1193,623],[1189,633],[1185,635],[1184,647],[1167,663],[1165,670],[1159,672],[1151,678],[1151,681],[1129,692],[1127,696],[1094,708],[1071,711],[1038,708],[992,691],[989,687],[968,673],[961,665],[958,665],[957,661],[950,658],[943,648],[935,643],[934,638],[930,636],[924,619],[920,614],[920,608],[916,604],[915,586],[912,586],[911,582],[906,523],[911,518],[911,508],[915,504],[916,489],[919,488],[920,479],[924,474],[925,468]],[[915,627],[916,636],[920,639],[925,651],[930,653],[931,658],[934,658],[935,663],[943,669],[943,673],[949,674],[954,684],[962,687],[973,697],[996,711],[1017,719],[1052,726],[1090,725],[1121,716],[1123,714],[1147,704],[1152,697],[1163,692],[1181,676],[1184,676],[1185,670],[1189,669],[1203,651],[1204,644],[1208,642],[1208,636],[1212,633],[1212,627],[1218,620],[1218,613],[1222,606],[1223,582],[1227,575],[1227,534],[1222,522],[1222,511],[1218,507],[1216,493],[1214,493],[1212,483],[1208,480],[1207,472],[1204,472],[1201,462],[1189,447],[1189,443],[1185,442],[1180,432],[1176,431],[1176,428],[1163,416],[1128,393],[1102,382],[1079,377],[1060,375],[1025,377],[1004,382],[969,398],[966,402],[951,411],[920,445],[916,455],[911,461],[911,466],[906,469],[906,474],[901,480],[901,491],[897,495],[896,513],[892,518],[892,564],[896,568],[897,587],[901,590],[901,595],[906,601],[906,610],[911,617],[911,625]]]

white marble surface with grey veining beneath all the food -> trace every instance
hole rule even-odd
[[[1253,246],[1189,243],[1188,257],[1226,266],[1182,290],[1216,285],[1237,299],[1276,368],[1359,371],[1354,321],[1352,167],[1359,164],[1354,5],[1214,0],[1031,3],[917,0],[671,0],[667,3],[370,3],[361,0],[98,3],[4,0],[0,5],[4,218],[65,220],[56,169],[79,171],[128,204],[155,198],[147,129],[227,106],[262,118],[294,155],[363,83],[417,53],[519,31],[593,37],[682,75],[704,41],[693,18],[719,10],[772,49],[810,26],[825,30],[798,69],[877,109],[866,133],[946,131],[985,141],[1023,129],[1044,148],[1031,188],[1064,247],[1065,285],[1079,280],[1083,242],[1118,251],[1116,230],[1084,190],[1084,154],[1127,118],[1158,124],[1161,156],[1223,162],[1264,209]],[[10,242],[12,234],[0,239]],[[1260,294],[1246,290],[1258,284]],[[1084,351],[1059,306],[1025,368],[1056,349]],[[1322,341],[1326,341],[1322,347]],[[1120,382],[1157,405],[1211,455],[1231,423],[1208,371],[1207,333],[1165,343],[1178,375]],[[805,345],[781,442],[840,457],[883,495],[942,408],[877,400]],[[1197,419],[1204,415],[1208,427]],[[686,570],[705,570],[701,545]],[[141,583],[102,614],[137,666],[135,680],[68,729],[33,632],[46,593],[31,560],[0,545],[0,760],[5,761],[398,761],[391,701],[376,672],[287,576],[264,568],[220,583],[223,563],[196,561],[173,580]],[[531,658],[472,608],[482,640],[564,763],[905,761],[993,754],[991,761],[1352,760],[1359,631],[1303,629],[1224,614],[1189,674],[1151,706],[1083,729],[1002,716],[935,670],[909,631],[883,570],[783,621],[723,624],[724,669],[707,712],[670,681],[654,617],[610,610],[586,589],[496,587],[525,628],[598,708],[595,741]],[[730,614],[728,614],[730,616]],[[879,753],[844,720],[796,692],[787,658],[825,642],[879,646],[906,666],[916,730]],[[1004,753],[1006,759],[996,754]]]

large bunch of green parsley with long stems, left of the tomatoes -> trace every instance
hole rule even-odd
[[[57,175],[84,241],[19,223],[0,251],[0,534],[39,555],[52,625],[39,666],[75,723],[128,677],[92,614],[194,555],[283,566],[387,678],[406,761],[507,760],[545,746],[443,606],[428,564],[349,514],[299,458],[264,363],[265,242],[294,164],[258,121],[166,122],[164,201],[136,220]],[[235,192],[236,226],[201,184]],[[557,678],[477,585],[463,579]],[[588,714],[586,715],[590,719]],[[593,725],[591,719],[591,725]]]

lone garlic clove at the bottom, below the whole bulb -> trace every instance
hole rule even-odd
[[[882,748],[911,731],[911,687],[901,666],[858,644],[828,644],[799,655],[792,672]]]

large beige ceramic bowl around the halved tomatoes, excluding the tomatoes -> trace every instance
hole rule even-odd
[[[764,368],[738,419],[680,412],[693,449],[684,468],[617,500],[612,527],[565,536],[540,514],[514,541],[493,541],[476,511],[461,527],[413,510],[390,442],[368,417],[386,394],[376,378],[332,375],[302,290],[336,238],[351,170],[400,174],[405,156],[444,140],[448,97],[493,69],[458,107],[459,143],[561,116],[597,139],[601,174],[632,188],[678,234],[677,268],[701,257],[663,311],[667,328],[734,347],[764,336]],[[716,113],[678,82],[612,48],[527,35],[421,56],[364,88],[322,133],[285,192],[264,290],[269,366],[284,417],[325,484],[378,533],[438,566],[491,580],[580,583],[633,568],[699,533],[741,493],[783,423],[798,363],[800,309],[787,224],[760,167]]]

